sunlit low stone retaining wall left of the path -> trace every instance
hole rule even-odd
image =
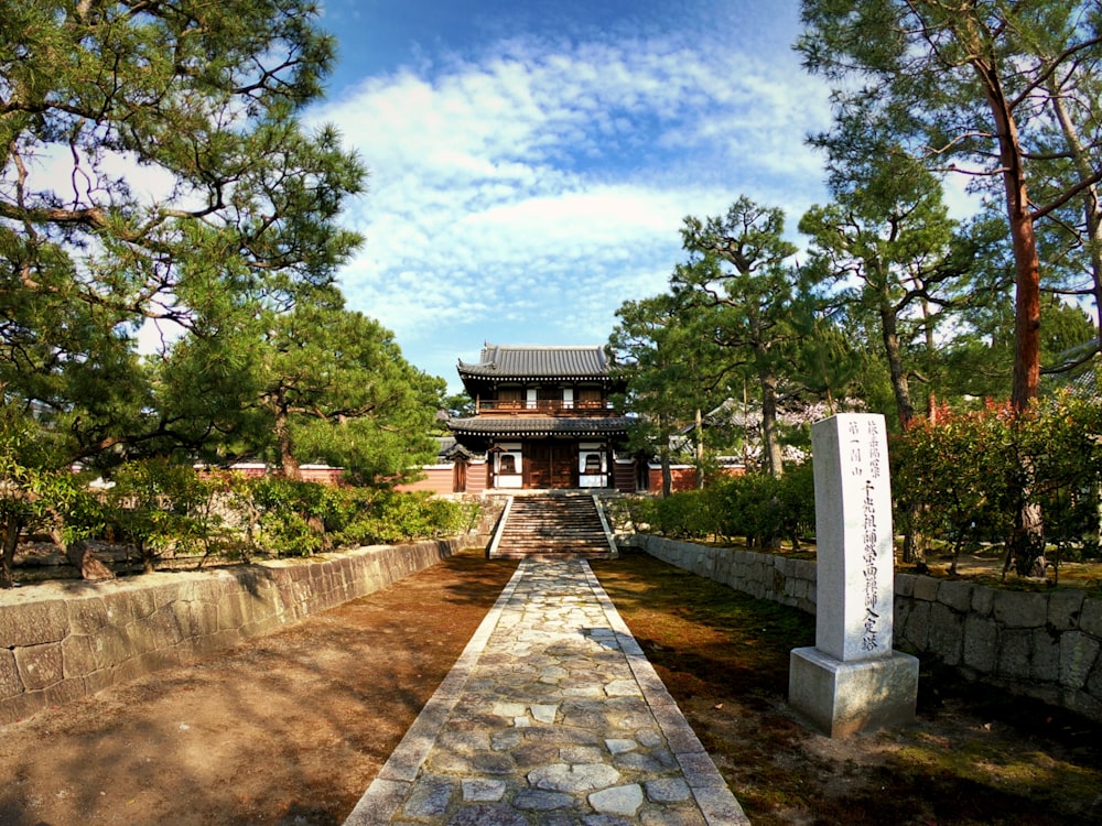
[[[3,591],[0,724],[274,631],[385,588],[464,540]]]

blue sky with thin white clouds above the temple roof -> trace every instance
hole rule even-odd
[[[325,0],[328,99],[370,171],[348,306],[458,389],[483,341],[597,344],[662,292],[687,215],[741,195],[790,235],[825,198],[827,91],[797,0]]]

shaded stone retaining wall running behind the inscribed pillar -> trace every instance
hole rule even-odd
[[[815,564],[646,534],[618,539],[760,599],[815,612]],[[1102,600],[1023,593],[916,574],[895,577],[895,644],[966,677],[1102,720]]]

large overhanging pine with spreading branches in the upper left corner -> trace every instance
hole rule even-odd
[[[365,172],[307,131],[333,40],[309,0],[0,2],[0,390],[91,458],[171,431],[150,319],[217,335],[324,287]]]

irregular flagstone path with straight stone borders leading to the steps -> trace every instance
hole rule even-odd
[[[525,559],[345,826],[747,824],[584,559]]]

